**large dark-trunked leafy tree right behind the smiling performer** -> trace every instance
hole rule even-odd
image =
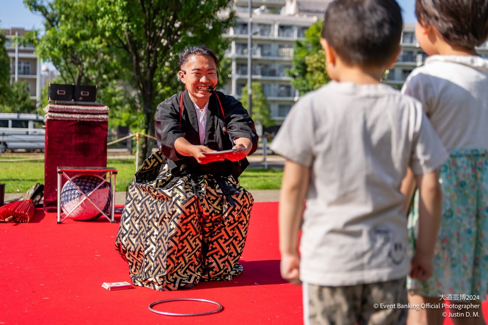
[[[181,85],[177,80],[177,54],[190,45],[204,43],[223,54],[221,38],[234,14],[219,17],[230,0],[98,0],[98,26],[110,49],[122,51],[116,59],[131,62],[128,81],[138,92],[144,119],[141,127],[154,135],[154,109]],[[149,139],[142,141],[140,162],[147,157]]]

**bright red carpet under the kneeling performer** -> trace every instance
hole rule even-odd
[[[0,224],[0,324],[302,324],[301,287],[279,274],[277,210],[276,202],[254,205],[242,275],[179,291],[102,288],[103,282],[130,282],[128,266],[113,248],[118,224],[106,219],[68,218],[58,225],[55,213],[36,210],[31,223]],[[224,310],[196,317],[148,310],[150,303],[170,298],[214,300]],[[178,302],[156,308],[187,313],[214,306]],[[486,304],[484,314],[487,319]]]

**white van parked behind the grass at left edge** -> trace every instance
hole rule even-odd
[[[44,117],[37,114],[0,113],[0,153],[5,150],[44,150]]]

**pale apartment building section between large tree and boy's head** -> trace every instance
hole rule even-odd
[[[295,40],[304,40],[310,25],[322,19],[328,0],[252,0],[252,80],[263,85],[271,116],[281,123],[298,99],[286,70],[292,67]],[[235,0],[237,21],[224,35],[231,38],[226,57],[232,60],[232,77],[224,86],[240,99],[247,83],[248,1]]]

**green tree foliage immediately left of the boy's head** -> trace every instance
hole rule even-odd
[[[291,85],[304,95],[330,81],[325,71],[325,53],[320,44],[322,21],[317,21],[305,32],[305,41],[295,41],[293,68],[288,76]]]

